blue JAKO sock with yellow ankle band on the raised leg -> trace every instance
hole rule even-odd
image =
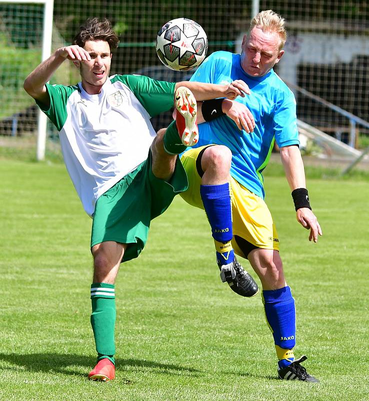
[[[231,263],[234,251],[232,239],[232,210],[229,183],[201,185],[200,195],[215,243],[216,259],[221,265]]]

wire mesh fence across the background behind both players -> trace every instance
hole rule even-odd
[[[142,73],[165,80],[183,80],[188,73],[172,73],[161,66],[154,41],[167,21],[187,17],[198,22],[208,36],[208,54],[216,50],[238,52],[254,2],[235,0],[76,1],[55,0],[52,50],[69,44],[80,23],[88,17],[107,17],[120,37],[111,73]],[[259,2],[286,19],[285,54],[276,72],[290,84],[303,88],[363,120],[369,115],[369,3],[362,1],[306,0]],[[35,131],[34,103],[22,82],[40,61],[42,7],[0,2],[0,135],[25,135]],[[64,63],[52,82],[74,84],[78,72]],[[349,120],[309,96],[295,92],[298,118],[348,142]],[[165,125],[164,119],[154,121]],[[356,127],[365,145],[369,131]]]

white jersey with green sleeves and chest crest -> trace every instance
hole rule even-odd
[[[81,82],[46,85],[50,107],[40,109],[59,131],[64,162],[89,216],[97,198],[147,158],[153,117],[173,105],[175,83],[114,75],[98,95]]]

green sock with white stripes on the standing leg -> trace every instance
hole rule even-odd
[[[115,291],[114,285],[91,285],[91,326],[95,338],[97,360],[108,358],[114,362]]]

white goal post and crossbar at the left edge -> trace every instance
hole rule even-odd
[[[51,52],[53,0],[0,0],[0,4],[3,3],[14,5],[43,4],[42,52],[40,62],[46,60]],[[47,117],[39,110],[37,123],[37,160],[43,160],[45,157],[46,125]]]

